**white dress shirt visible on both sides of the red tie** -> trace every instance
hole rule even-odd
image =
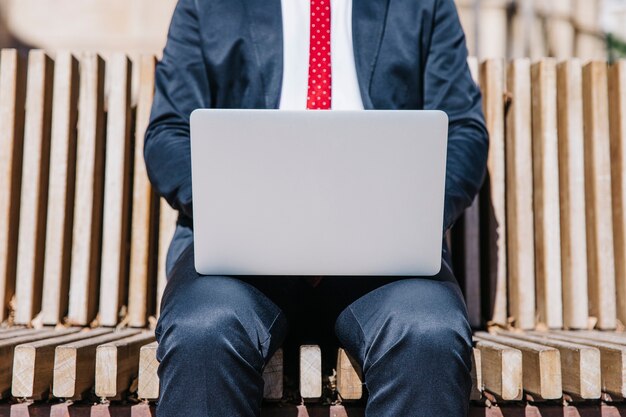
[[[304,110],[309,86],[310,0],[282,0],[283,80],[280,109]],[[330,0],[332,109],[362,110],[352,46],[352,0]]]

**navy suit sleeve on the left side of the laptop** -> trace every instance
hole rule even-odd
[[[156,65],[155,96],[146,131],[144,158],[157,192],[192,218],[189,117],[210,107],[195,0],[180,0],[170,24],[163,58]]]

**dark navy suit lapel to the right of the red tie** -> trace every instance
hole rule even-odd
[[[389,0],[352,0],[352,44],[363,106],[374,108],[369,94],[380,51]]]

